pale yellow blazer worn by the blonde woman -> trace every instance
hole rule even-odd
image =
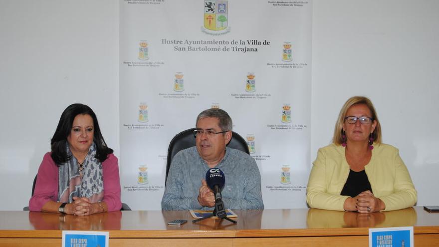
[[[349,175],[345,148],[330,144],[320,148],[313,162],[306,188],[311,208],[343,211],[348,196],[340,196]],[[387,144],[374,144],[372,158],[364,167],[375,197],[386,205],[385,211],[415,205],[418,194],[399,150]]]

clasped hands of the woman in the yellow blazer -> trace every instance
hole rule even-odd
[[[358,213],[373,213],[384,210],[386,205],[381,199],[376,198],[371,191],[363,191],[356,197],[346,199],[344,209]]]

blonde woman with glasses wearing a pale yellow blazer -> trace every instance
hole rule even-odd
[[[417,192],[397,148],[381,143],[370,99],[354,96],[340,110],[333,143],[320,148],[306,189],[311,208],[372,213],[409,208]]]

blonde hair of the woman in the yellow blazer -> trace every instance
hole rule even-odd
[[[372,113],[373,120],[377,121],[377,125],[375,126],[374,132],[372,136],[374,137],[374,143],[381,143],[381,125],[378,120],[377,112],[375,111],[375,107],[372,104],[372,101],[364,96],[353,96],[349,98],[343,107],[340,110],[340,114],[338,115],[337,122],[335,123],[334,129],[334,137],[332,138],[332,142],[337,145],[341,145],[343,143],[343,122],[345,121],[346,112],[348,109],[356,104],[364,104],[366,105]]]

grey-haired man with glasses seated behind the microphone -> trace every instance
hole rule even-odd
[[[197,117],[196,147],[174,156],[162,198],[162,210],[213,210],[215,196],[204,180],[217,167],[225,177],[222,201],[229,209],[263,209],[260,173],[248,154],[226,148],[232,121],[224,110],[212,108]]]

